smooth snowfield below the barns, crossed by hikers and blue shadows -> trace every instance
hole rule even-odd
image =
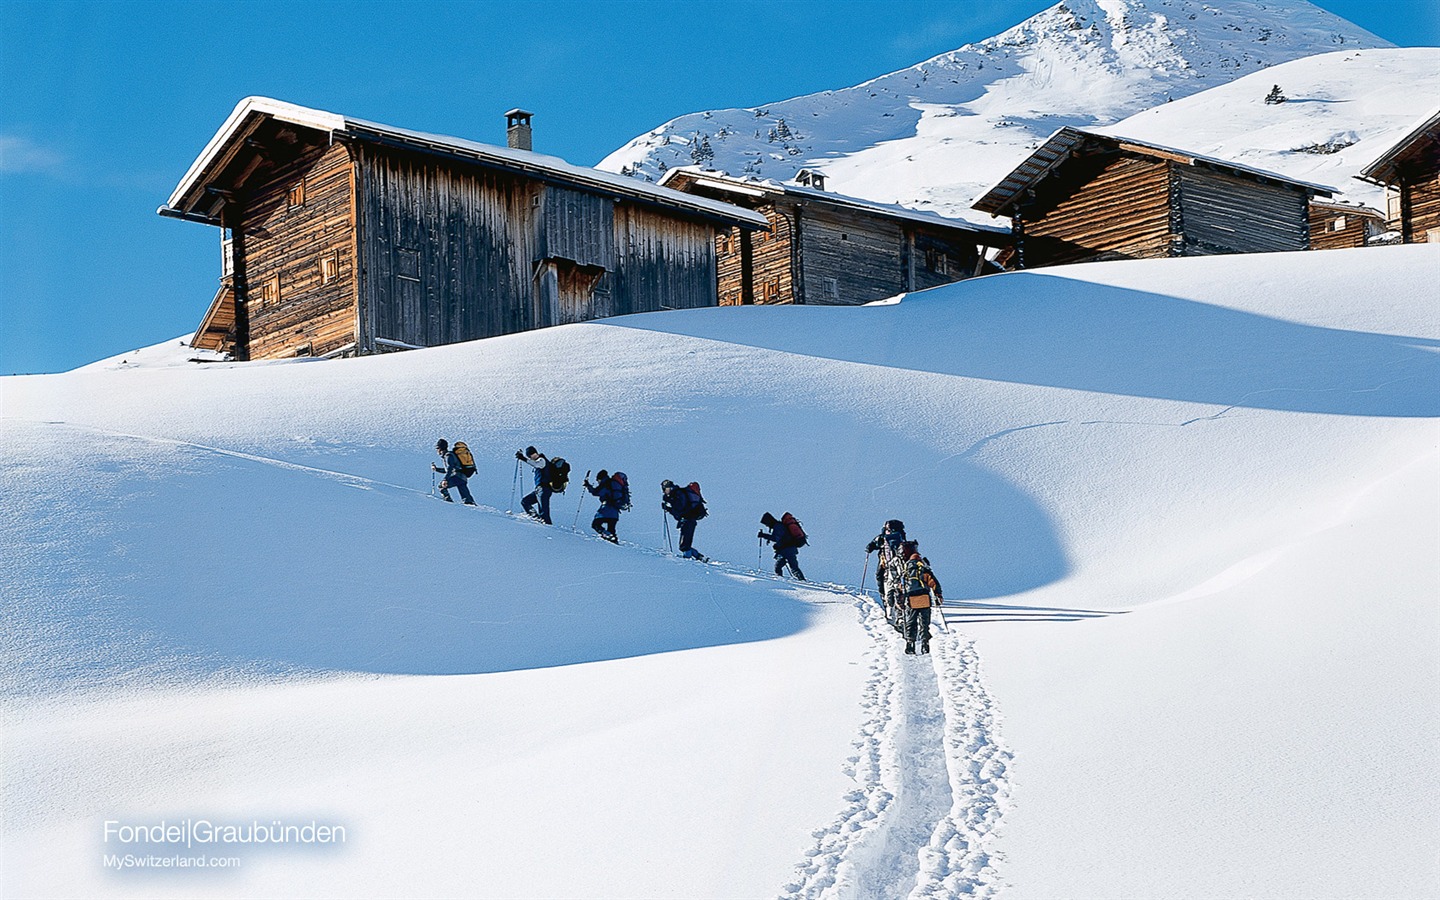
[[[1436,896],[1437,271],[1109,262],[0,379],[0,891]],[[436,436],[482,508],[426,497]],[[505,516],[527,444],[626,471],[626,543],[575,488]],[[661,478],[717,564],[661,552]],[[821,583],[750,572],[766,510]],[[929,660],[829,586],[891,517],[949,600]],[[105,868],[107,819],[187,816],[350,838]]]

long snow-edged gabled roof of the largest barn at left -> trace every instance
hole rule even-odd
[[[660,187],[647,181],[621,176],[599,168],[573,166],[559,157],[533,153],[530,150],[516,150],[494,144],[481,144],[465,138],[428,134],[395,125],[383,125],[366,120],[350,118],[298,107],[268,96],[248,96],[230,112],[220,130],[204,145],[200,156],[186,171],[180,184],[170,194],[170,200],[160,209],[161,215],[193,217],[209,220],[206,212],[196,210],[196,204],[204,199],[206,181],[219,173],[225,164],[243,147],[245,137],[253,132],[264,120],[275,120],[305,128],[314,128],[330,135],[348,137],[361,141],[384,144],[402,144],[422,151],[441,153],[454,158],[461,158],[482,166],[521,171],[543,180],[562,181],[580,186],[589,190],[611,193],[621,197],[655,203],[660,206],[681,209],[688,213],[723,219],[726,222],[768,228],[765,216],[753,213],[730,203],[697,197],[684,192]]]

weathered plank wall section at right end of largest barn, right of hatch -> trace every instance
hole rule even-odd
[[[634,203],[615,204],[615,315],[714,307],[716,226]]]

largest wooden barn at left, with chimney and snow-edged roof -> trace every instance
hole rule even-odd
[[[160,215],[215,225],[220,289],[194,346],[238,359],[429,347],[713,307],[727,203],[508,147],[248,98]]]

